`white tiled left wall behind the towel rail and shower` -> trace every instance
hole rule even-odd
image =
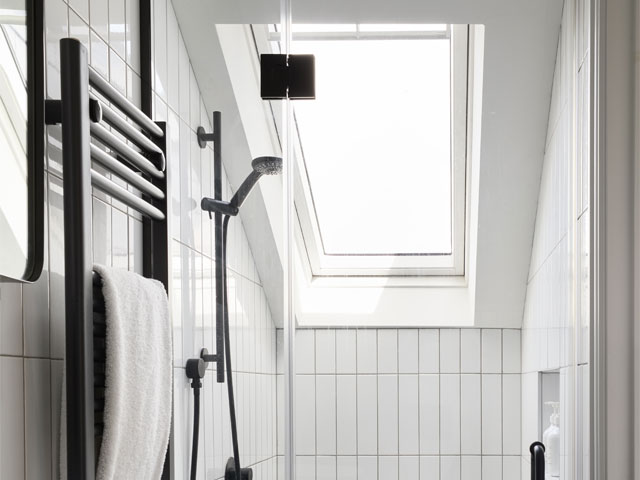
[[[59,98],[58,40],[72,36],[90,63],[140,104],[137,0],[47,0],[47,93]],[[173,476],[188,478],[192,390],[184,363],[201,347],[215,351],[211,223],[197,205],[211,196],[212,149],[201,150],[195,129],[210,131],[198,84],[171,2],[154,0],[154,118],[168,122],[171,184],[170,302],[174,325],[175,417]],[[212,36],[213,40],[213,36]],[[47,128],[45,270],[33,285],[0,284],[0,478],[58,478],[58,436],[64,353],[64,245],[60,128]],[[223,179],[230,193],[226,178]],[[139,215],[95,192],[94,260],[141,272]],[[276,475],[275,329],[249,243],[239,219],[229,239],[231,344],[240,451],[256,479]],[[226,389],[205,378],[199,477],[223,476],[231,455]]]

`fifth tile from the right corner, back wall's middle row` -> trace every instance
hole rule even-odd
[[[440,382],[438,375],[420,375],[420,454],[440,453]],[[421,474],[422,475],[422,474]]]

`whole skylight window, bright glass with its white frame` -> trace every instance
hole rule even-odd
[[[313,274],[464,274],[468,27],[292,32],[316,58],[316,100],[294,103]]]

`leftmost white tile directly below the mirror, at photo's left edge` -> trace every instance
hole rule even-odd
[[[0,282],[0,354],[22,355],[22,285]]]

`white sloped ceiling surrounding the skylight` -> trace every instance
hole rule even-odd
[[[236,144],[238,151],[246,152],[246,159],[225,158],[234,186],[248,173],[250,155],[256,156],[258,150],[260,154],[268,153],[264,152],[268,141],[247,136],[241,105],[245,99],[230,95],[233,86],[227,72],[229,58],[225,62],[216,25],[280,23],[279,6],[279,0],[174,1],[205,105],[210,111],[223,110],[225,122],[231,124],[225,123],[225,145]],[[485,25],[482,134],[479,158],[473,164],[479,185],[477,202],[472,206],[477,224],[477,230],[472,229],[475,238],[471,246],[474,278],[468,279],[465,288],[448,291],[414,288],[411,298],[415,303],[407,297],[411,292],[387,288],[385,300],[378,301],[377,307],[366,315],[342,315],[342,320],[336,317],[331,321],[326,319],[332,312],[323,316],[318,311],[309,314],[308,322],[325,318],[327,324],[382,325],[390,323],[389,315],[398,318],[398,302],[409,302],[409,310],[421,313],[403,319],[401,324],[520,326],[562,6],[561,0],[292,0],[293,21],[300,23]],[[273,239],[265,240],[264,232],[277,231],[281,212],[271,212],[270,208],[265,211],[261,202],[269,196],[269,189],[273,192],[277,188],[275,183],[261,185],[260,195],[255,195],[243,212],[257,222],[252,225],[245,220],[245,228],[267,294],[272,298],[280,298],[281,293],[281,267],[277,261],[281,248]],[[271,227],[264,223],[267,218]],[[451,290],[467,290],[464,308],[463,293]],[[325,288],[322,295],[324,301],[316,299],[316,303],[329,305],[331,289]],[[460,298],[456,299],[456,295]],[[429,315],[430,306],[436,304],[438,309]],[[280,302],[272,301],[271,308],[274,317],[279,318]],[[305,323],[304,312],[299,313]]]

